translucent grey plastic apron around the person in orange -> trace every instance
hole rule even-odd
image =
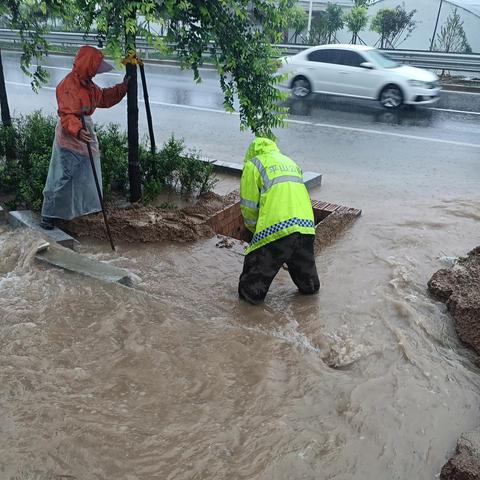
[[[92,118],[85,116],[87,130],[92,137],[93,159],[102,188],[102,169],[98,140]],[[85,142],[62,128],[60,120],[55,129],[52,158],[43,190],[42,216],[71,220],[101,211],[95,179]]]

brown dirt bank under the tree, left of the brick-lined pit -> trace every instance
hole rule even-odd
[[[107,210],[112,236],[123,242],[192,242],[210,238],[213,230],[205,222],[217,211],[232,204],[236,194],[220,196],[207,193],[188,207],[166,210],[134,204],[126,208]],[[61,228],[77,237],[92,237],[105,240],[106,232],[101,213],[64,222]]]

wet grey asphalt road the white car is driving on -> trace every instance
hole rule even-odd
[[[54,113],[54,89],[72,58],[48,59],[49,86],[35,94],[18,67],[18,53],[3,52],[9,101],[15,114],[34,109]],[[148,65],[147,80],[157,144],[172,133],[188,147],[229,162],[242,162],[252,139],[238,115],[223,111],[215,72],[192,74],[177,67]],[[121,72],[95,79],[101,86],[121,81]],[[139,88],[141,94],[141,88]],[[361,205],[375,198],[420,199],[438,194],[477,195],[480,182],[480,95],[444,92],[433,108],[386,112],[374,102],[313,96],[290,99],[279,146],[306,170],[324,174],[322,191],[331,201]],[[97,110],[96,122],[126,124],[126,102]],[[140,104],[140,128],[146,119]]]

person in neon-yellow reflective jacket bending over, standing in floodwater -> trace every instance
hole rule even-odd
[[[313,209],[303,173],[268,138],[256,138],[248,148],[240,208],[253,234],[238,285],[240,298],[262,302],[284,263],[301,293],[318,292]]]

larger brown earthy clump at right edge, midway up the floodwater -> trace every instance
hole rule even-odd
[[[460,340],[480,355],[480,246],[433,274],[428,289],[446,302]]]

